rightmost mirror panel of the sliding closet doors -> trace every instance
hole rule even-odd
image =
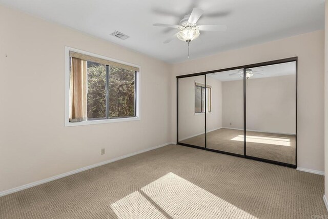
[[[296,164],[296,62],[246,69],[246,155]]]

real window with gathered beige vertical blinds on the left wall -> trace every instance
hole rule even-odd
[[[131,121],[139,117],[138,67],[113,62],[91,53],[71,50],[67,53],[67,126]]]

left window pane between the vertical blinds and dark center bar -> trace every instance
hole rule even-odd
[[[88,120],[106,118],[106,65],[88,61]]]

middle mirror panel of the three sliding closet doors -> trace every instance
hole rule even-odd
[[[211,87],[207,148],[243,155],[243,69],[207,74]]]

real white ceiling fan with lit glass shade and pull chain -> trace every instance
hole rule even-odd
[[[226,31],[227,25],[197,25],[197,21],[203,14],[203,10],[200,8],[194,8],[191,14],[185,15],[179,23],[179,25],[171,24],[153,24],[157,27],[170,27],[177,28],[180,31],[168,38],[163,43],[170,43],[174,38],[178,38],[181,41],[188,43],[188,58],[189,58],[189,43],[196,39],[200,32],[199,31]]]

